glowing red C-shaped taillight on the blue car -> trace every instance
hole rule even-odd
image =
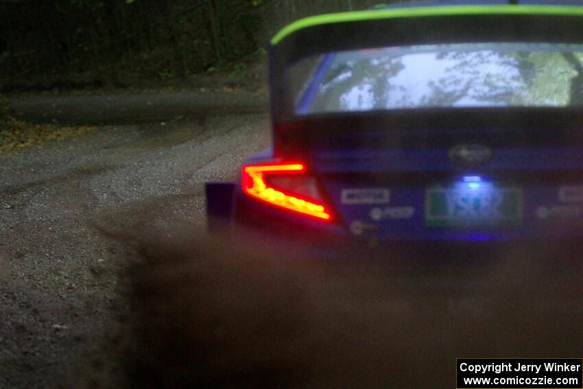
[[[267,182],[267,176],[276,178],[293,174],[305,173],[302,163],[270,163],[243,166],[241,185],[243,192],[252,198],[266,202],[289,211],[315,217],[318,220],[331,220],[329,211],[324,204],[311,198],[303,198],[297,193],[286,193],[285,189],[275,188]]]

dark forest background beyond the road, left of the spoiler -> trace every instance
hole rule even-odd
[[[374,0],[0,0],[0,91],[245,76],[296,19]]]

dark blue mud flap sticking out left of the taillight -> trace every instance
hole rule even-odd
[[[206,182],[206,226],[209,233],[224,231],[233,216],[233,182]]]

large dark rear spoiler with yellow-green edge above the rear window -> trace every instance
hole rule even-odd
[[[458,5],[311,16],[270,41],[274,123],[294,118],[287,67],[302,58],[353,49],[444,43],[583,43],[581,6]]]

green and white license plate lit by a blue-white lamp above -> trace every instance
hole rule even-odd
[[[428,227],[517,226],[522,202],[516,188],[431,188],[425,192],[425,221]]]

